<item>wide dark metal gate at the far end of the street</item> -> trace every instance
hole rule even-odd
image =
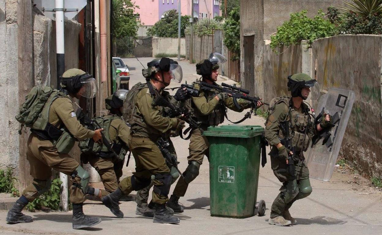
[[[151,57],[152,37],[125,37],[116,39],[118,57]]]

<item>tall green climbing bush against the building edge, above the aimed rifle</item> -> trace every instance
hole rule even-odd
[[[233,8],[223,23],[223,43],[233,53],[233,61],[240,59],[240,7]]]

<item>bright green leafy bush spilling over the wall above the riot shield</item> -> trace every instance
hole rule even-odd
[[[330,37],[337,32],[335,25],[324,18],[325,14],[318,11],[314,18],[306,16],[306,11],[290,14],[290,20],[277,28],[277,33],[270,37],[270,47],[290,46],[301,40],[308,40],[309,45],[317,38]]]

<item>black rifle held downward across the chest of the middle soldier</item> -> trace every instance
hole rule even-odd
[[[154,104],[162,107],[167,107],[169,108],[168,110],[165,110],[163,113],[163,116],[165,117],[178,117],[183,114],[183,120],[190,125],[192,129],[197,129],[200,128],[201,122],[200,121],[195,121],[191,115],[191,111],[186,107],[186,106],[179,106],[179,105],[174,105],[167,101],[163,96],[156,96],[154,98]]]

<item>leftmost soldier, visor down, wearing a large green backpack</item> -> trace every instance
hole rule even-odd
[[[83,202],[89,188],[90,175],[73,157],[68,155],[75,139],[92,138],[94,142],[102,141],[100,133],[102,129],[92,131],[84,128],[77,120],[71,101],[71,98],[79,99],[81,96],[94,98],[95,80],[83,70],[69,69],[62,75],[61,86],[63,90],[53,90],[50,94],[35,121],[36,126],[38,126],[37,123],[45,122],[46,127],[31,128],[32,133],[27,143],[27,159],[34,179],[8,211],[6,221],[10,223],[32,222],[32,217],[24,215],[21,210],[50,189],[52,169],[71,176],[73,185],[70,187],[70,201],[73,203],[73,229],[91,227],[101,222],[100,218],[89,217],[83,213]]]

